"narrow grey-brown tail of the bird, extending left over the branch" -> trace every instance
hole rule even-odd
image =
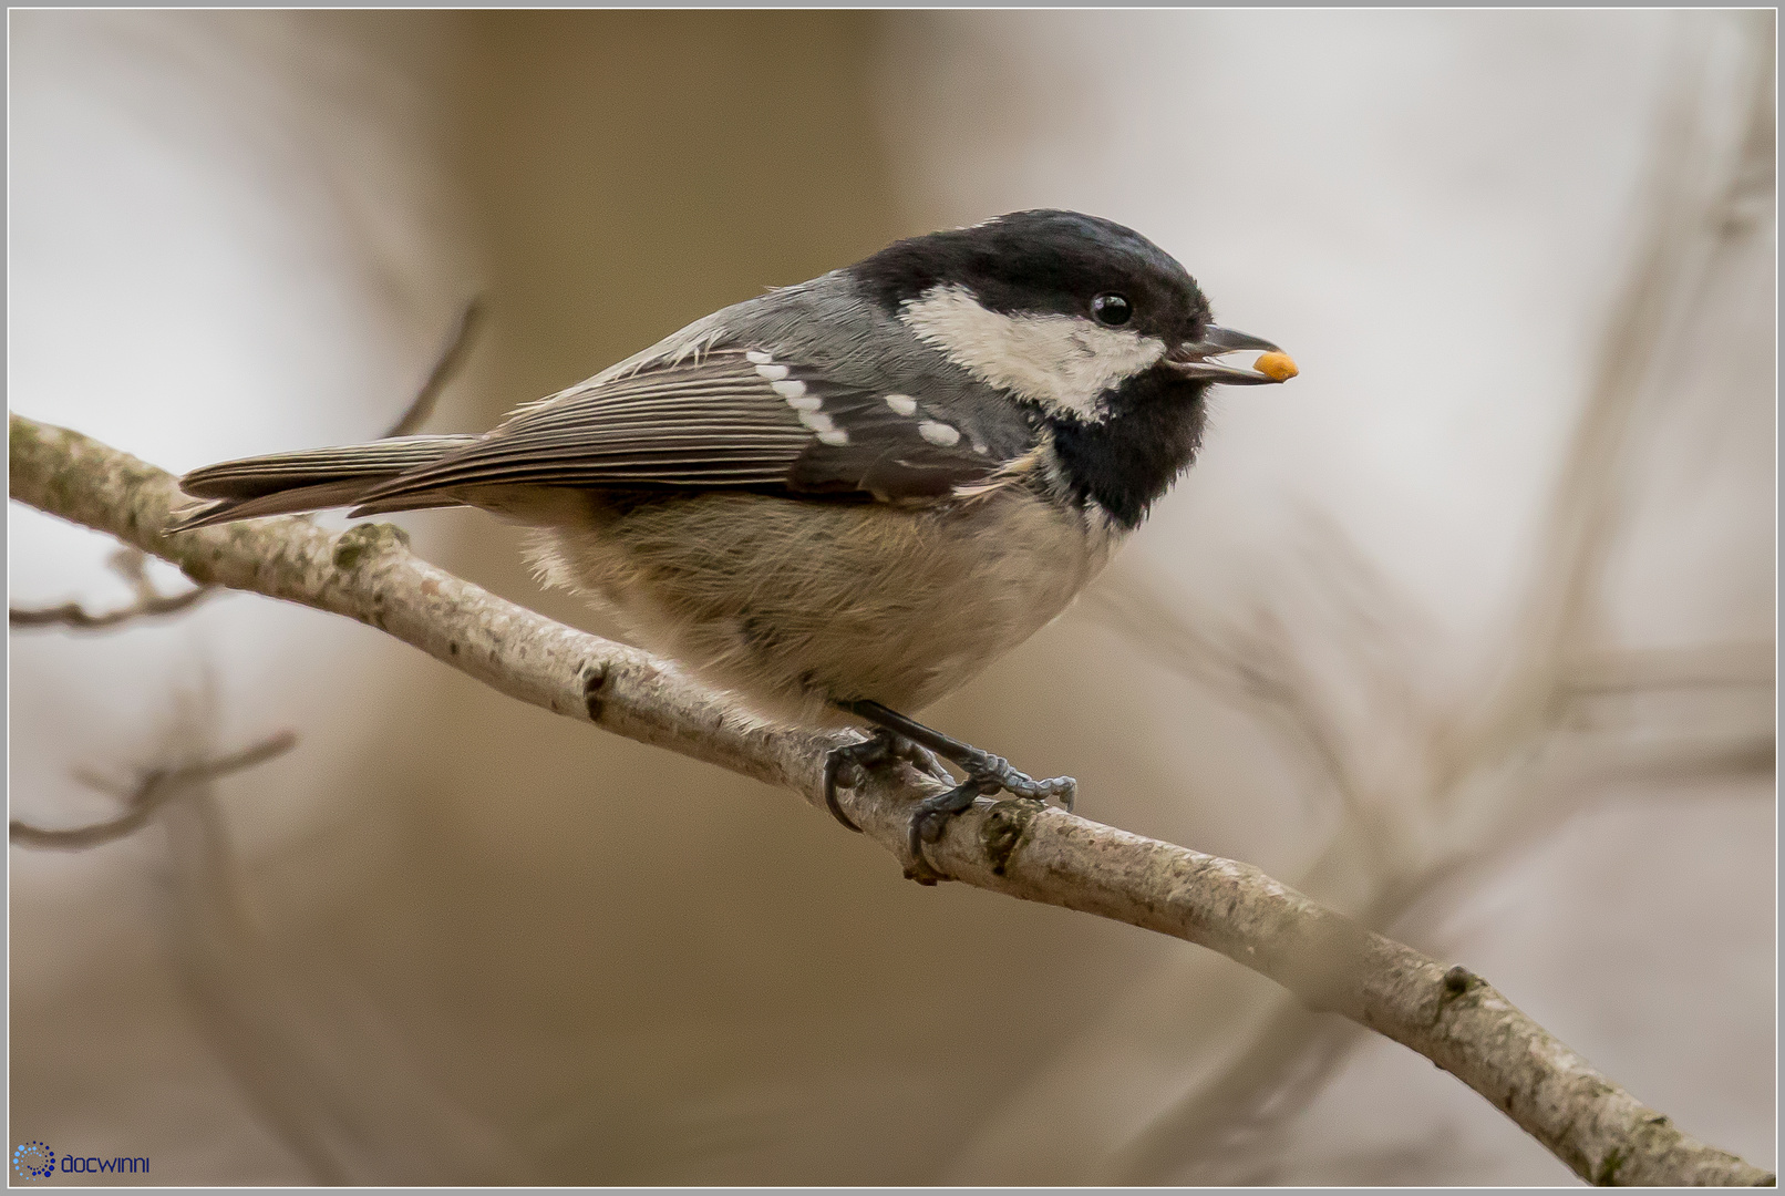
[[[168,530],[186,532],[195,527],[255,519],[268,514],[350,507],[373,486],[416,466],[432,464],[446,453],[477,443],[477,439],[475,436],[400,436],[369,444],[246,457],[193,469],[180,478],[180,489],[193,498],[211,502],[177,511],[168,521]],[[436,491],[405,496],[402,507],[384,507],[384,511],[450,507],[455,502]]]

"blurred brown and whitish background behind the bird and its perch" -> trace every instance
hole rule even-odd
[[[9,403],[173,471],[378,434],[473,295],[432,432],[900,236],[1142,230],[1303,375],[1217,391],[1094,591],[930,721],[1465,962],[1774,1166],[1771,12],[9,32]],[[610,630],[494,521],[396,521]],[[127,602],[111,548],[11,507],[12,603]],[[1567,1178],[1225,959],[921,889],[337,618],[14,632],[9,682],[43,825],[116,812],[75,771],[302,737],[125,841],[11,848],[14,1144],[162,1184]]]

